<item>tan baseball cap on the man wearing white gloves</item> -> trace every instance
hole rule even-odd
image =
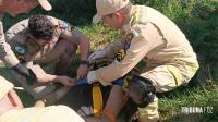
[[[101,21],[104,15],[117,12],[129,3],[130,0],[96,0],[97,13],[93,17],[93,23]]]

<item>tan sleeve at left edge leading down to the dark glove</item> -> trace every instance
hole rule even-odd
[[[8,68],[12,68],[19,63],[9,44],[5,42],[2,25],[3,13],[0,13],[0,59]]]

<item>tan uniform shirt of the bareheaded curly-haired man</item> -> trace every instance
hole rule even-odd
[[[20,61],[25,60],[24,62],[29,62],[32,60],[43,60],[52,50],[59,38],[78,44],[81,36],[78,29],[61,20],[52,16],[48,17],[56,26],[56,37],[52,44],[39,46],[28,36],[28,19],[15,24],[5,33],[5,39]],[[63,23],[65,27],[61,27]]]

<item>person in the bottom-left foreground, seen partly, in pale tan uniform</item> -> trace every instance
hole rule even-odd
[[[85,122],[66,106],[24,108],[13,87],[0,77],[0,122]]]

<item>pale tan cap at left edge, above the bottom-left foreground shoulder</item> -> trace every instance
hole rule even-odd
[[[14,85],[8,82],[4,77],[0,76],[0,99],[9,93]]]

